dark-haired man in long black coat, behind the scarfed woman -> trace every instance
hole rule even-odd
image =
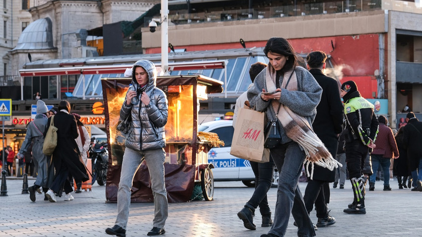
[[[311,52],[306,57],[309,72],[322,87],[321,101],[317,106],[317,115],[312,127],[331,155],[336,157],[338,135],[343,129],[343,105],[339,84],[335,79],[323,73],[326,59],[326,54],[321,51]],[[311,172],[310,169],[307,170],[308,174]],[[315,204],[318,217],[317,227],[326,227],[336,223],[336,220],[328,215],[327,208],[327,203],[330,201],[329,183],[334,182],[335,176],[335,169],[330,171],[327,168],[315,166],[313,179],[308,180],[303,200],[308,213],[312,211]]]

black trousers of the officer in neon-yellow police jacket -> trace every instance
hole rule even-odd
[[[349,178],[360,178],[363,175],[362,170],[368,151],[369,147],[363,145],[358,139],[346,142],[345,152]]]

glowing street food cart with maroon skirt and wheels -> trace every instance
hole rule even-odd
[[[117,190],[125,150],[125,134],[116,129],[119,113],[125,100],[131,78],[103,78],[106,132],[109,142],[109,166],[107,172],[107,202],[117,202]],[[201,76],[158,76],[156,86],[168,99],[168,120],[165,125],[166,159],[164,163],[165,183],[169,202],[191,200],[195,185],[201,185],[206,200],[213,198],[213,176],[208,163],[208,151],[221,141],[214,134],[198,134],[199,100],[207,94],[221,93],[222,82]],[[152,202],[153,196],[147,166],[143,162],[137,171],[133,187],[132,202]]]

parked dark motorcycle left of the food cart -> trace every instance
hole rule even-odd
[[[92,184],[97,180],[100,186],[106,184],[108,168],[107,143],[101,142],[91,146],[89,155],[92,162]]]

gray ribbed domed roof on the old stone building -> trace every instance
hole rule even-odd
[[[13,50],[53,49],[53,30],[50,18],[38,19],[29,24],[19,36]]]

